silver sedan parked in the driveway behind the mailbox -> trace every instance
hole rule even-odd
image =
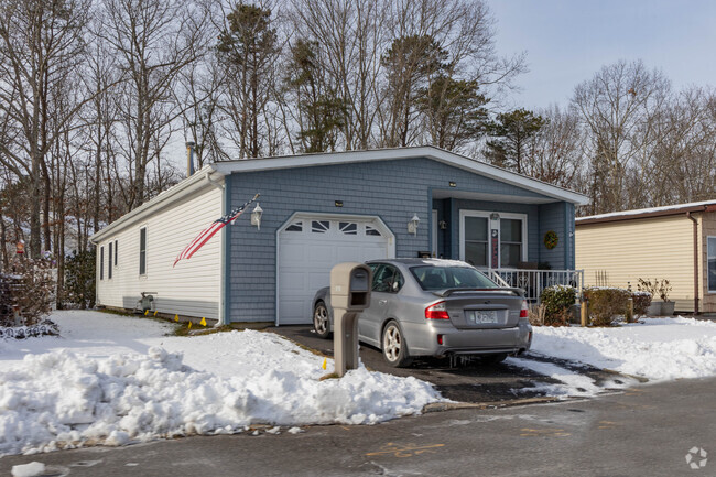
[[[392,259],[367,263],[373,273],[370,306],[358,317],[362,343],[391,366],[417,356],[478,355],[499,362],[532,344],[527,301],[474,267],[454,260]],[[329,288],[313,300],[313,325],[333,332]]]

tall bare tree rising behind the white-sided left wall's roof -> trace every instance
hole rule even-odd
[[[117,107],[130,164],[129,209],[148,199],[148,165],[160,160],[171,126],[181,113],[173,100],[180,72],[205,45],[203,17],[180,0],[107,0],[99,33],[117,51],[124,82]],[[161,139],[158,139],[160,138]]]

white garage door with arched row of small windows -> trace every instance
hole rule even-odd
[[[393,258],[394,239],[375,217],[296,215],[279,231],[278,323],[312,321],[314,294],[340,262]]]

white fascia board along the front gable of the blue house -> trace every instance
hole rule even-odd
[[[310,167],[316,165],[350,164],[356,162],[393,161],[399,159],[427,158],[453,165],[486,177],[516,185],[558,200],[575,205],[589,204],[589,198],[577,192],[557,187],[535,178],[507,171],[496,165],[445,151],[432,145],[414,148],[376,149],[369,151],[346,151],[319,154],[288,155],[265,159],[248,159],[215,163],[217,171],[224,174],[272,171],[279,169]]]

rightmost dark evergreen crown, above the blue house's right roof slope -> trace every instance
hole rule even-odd
[[[529,141],[546,124],[546,120],[527,109],[497,115],[488,126],[487,158],[500,167],[523,172]]]

